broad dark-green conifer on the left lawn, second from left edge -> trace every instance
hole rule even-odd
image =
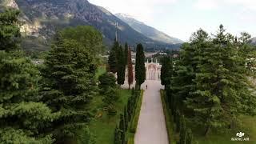
[[[96,66],[90,52],[80,42],[62,38],[46,56],[42,68],[42,101],[61,116],[51,126],[58,142],[73,139],[81,126],[90,120],[86,107],[97,87],[94,82]]]

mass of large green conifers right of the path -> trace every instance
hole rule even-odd
[[[198,30],[190,43],[182,45],[170,89],[166,88],[176,125],[180,111],[206,135],[210,130],[232,128],[240,114],[255,114],[256,98],[247,80],[255,50],[247,44],[248,38],[248,34],[234,38],[220,26],[213,38]],[[180,137],[182,133],[181,127]]]

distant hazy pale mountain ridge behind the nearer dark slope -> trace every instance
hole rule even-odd
[[[147,26],[143,22],[139,22],[135,18],[132,18],[127,14],[115,14],[118,18],[120,18],[123,22],[128,23],[129,26],[137,30],[139,33],[145,35],[148,38],[151,38],[158,42],[167,42],[170,44],[182,43],[182,40],[178,38],[170,37],[169,35],[163,33],[162,31],[156,30],[154,27]]]

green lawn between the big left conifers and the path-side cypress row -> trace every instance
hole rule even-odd
[[[119,122],[119,115],[123,113],[131,93],[130,90],[118,90],[120,98],[116,104],[118,114],[109,117],[103,110],[102,96],[96,96],[91,103],[91,109],[94,111],[95,118],[90,122],[90,131],[96,137],[96,144],[114,143],[114,129]],[[102,117],[96,118],[96,115],[102,114]]]

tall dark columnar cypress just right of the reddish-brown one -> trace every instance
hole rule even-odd
[[[136,49],[136,64],[135,64],[135,79],[138,87],[142,85],[146,80],[146,68],[145,68],[145,55],[142,44],[137,45]]]

